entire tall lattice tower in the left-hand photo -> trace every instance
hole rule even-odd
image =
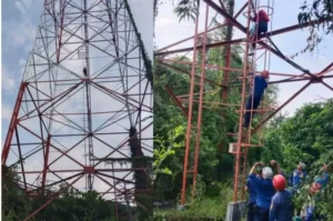
[[[152,157],[148,63],[125,0],[44,1],[2,151],[24,192],[67,183],[135,204],[150,191],[134,190],[133,173],[151,169],[133,168],[130,149],[134,139],[139,157]]]

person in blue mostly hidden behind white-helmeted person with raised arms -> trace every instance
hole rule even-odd
[[[262,177],[262,169],[258,170],[256,177]],[[254,183],[250,179],[248,179],[246,181],[246,191],[250,194],[246,220],[256,221],[256,189]]]

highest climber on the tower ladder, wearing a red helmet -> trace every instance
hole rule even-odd
[[[270,18],[269,14],[263,9],[261,9],[258,12],[258,14],[254,12],[254,17],[250,17],[250,19],[254,23],[252,24],[252,28],[250,30],[250,41],[252,43],[251,43],[249,56],[253,56],[255,50],[255,41],[259,40],[259,37],[261,34],[268,32]]]

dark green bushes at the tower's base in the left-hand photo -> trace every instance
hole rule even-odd
[[[21,188],[19,188],[20,179],[14,168],[2,168],[2,220],[17,221],[23,220],[38,208],[40,208],[50,198],[57,194],[54,188],[46,189],[46,193],[38,192],[37,195],[28,197]],[[97,192],[77,192],[68,189],[64,184],[60,184],[59,190],[62,194],[54,199],[48,207],[37,213],[32,221],[115,221],[115,205],[105,201]],[[128,208],[118,204],[118,212],[125,213],[131,210],[135,214],[134,208]],[[123,217],[120,220],[128,220]]]

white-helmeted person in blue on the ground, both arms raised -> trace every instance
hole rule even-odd
[[[270,167],[262,169],[262,178],[258,178],[254,173],[258,167],[263,165],[263,162],[256,162],[250,170],[249,179],[254,183],[256,189],[258,220],[269,221],[271,200],[275,194],[275,189],[272,181],[273,170]],[[280,165],[275,160],[271,161],[271,165],[281,174]]]

